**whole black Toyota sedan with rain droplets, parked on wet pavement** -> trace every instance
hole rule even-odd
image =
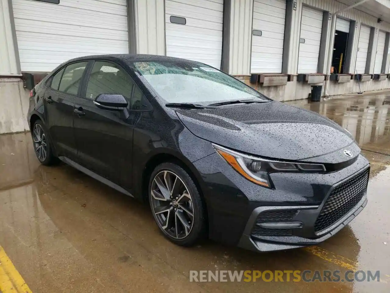
[[[149,202],[179,245],[312,245],[367,203],[369,162],[346,130],[199,62],[73,59],[31,91],[27,118],[42,164]]]

